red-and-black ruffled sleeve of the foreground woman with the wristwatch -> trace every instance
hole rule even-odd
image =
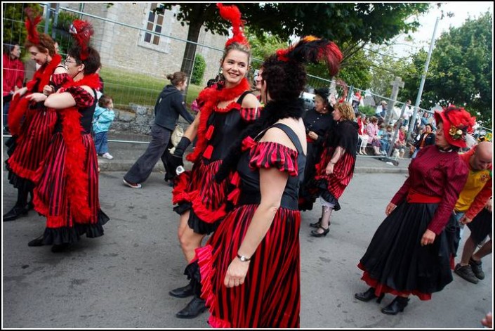
[[[251,149],[251,169],[277,168],[279,171],[289,172],[289,176],[298,175],[298,152],[279,143],[261,142]]]

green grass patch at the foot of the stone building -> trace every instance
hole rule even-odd
[[[160,79],[111,67],[103,67],[100,75],[105,84],[105,94],[112,96],[114,107],[121,110],[128,109],[129,103],[154,107],[161,90],[170,84],[166,78]],[[186,96],[188,109],[202,89],[202,86],[189,85]]]

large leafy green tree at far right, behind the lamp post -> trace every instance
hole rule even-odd
[[[492,127],[493,15],[468,18],[461,27],[451,27],[435,43],[425,80],[421,107],[436,103],[463,106],[484,126]],[[426,53],[416,53],[413,66],[419,74],[411,84],[419,85]],[[417,87],[416,87],[417,95]]]

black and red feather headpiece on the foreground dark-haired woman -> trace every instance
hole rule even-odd
[[[341,50],[333,42],[315,36],[303,37],[297,44],[277,51],[277,59],[283,62],[295,60],[299,63],[317,64],[325,60],[329,74],[335,76],[343,59]]]

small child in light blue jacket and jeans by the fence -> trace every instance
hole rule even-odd
[[[107,133],[115,118],[113,111],[114,103],[112,97],[103,94],[96,105],[93,116],[93,134],[95,137],[95,148],[99,156],[112,160],[114,157],[108,152]]]

